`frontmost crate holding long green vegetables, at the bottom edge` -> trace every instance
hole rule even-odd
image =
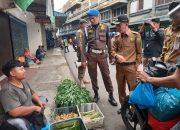
[[[83,123],[81,118],[73,118],[73,119],[69,119],[69,120],[53,123],[53,124],[50,125],[49,130],[56,130],[56,126],[57,125],[63,125],[64,123],[68,123],[69,121],[73,121],[73,120],[79,121],[79,124],[80,124],[79,128],[80,129],[77,129],[77,130],[87,130],[87,128],[84,125],[84,123]]]

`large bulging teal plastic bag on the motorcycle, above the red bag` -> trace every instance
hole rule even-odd
[[[149,112],[160,121],[180,115],[180,90],[158,88],[154,91],[155,106]]]

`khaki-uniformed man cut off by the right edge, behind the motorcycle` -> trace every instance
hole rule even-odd
[[[180,2],[171,3],[169,11],[179,4]],[[172,18],[172,26],[165,29],[161,60],[170,64],[176,64],[178,56],[180,56],[180,16]]]

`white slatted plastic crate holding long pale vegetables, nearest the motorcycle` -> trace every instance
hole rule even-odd
[[[88,129],[94,129],[94,128],[100,128],[104,126],[104,115],[99,109],[98,105],[96,103],[85,103],[78,106],[80,117],[82,118],[81,112],[88,112],[91,110],[95,110],[97,113],[100,114],[100,117],[95,118],[93,120],[87,121],[83,120],[84,124]]]

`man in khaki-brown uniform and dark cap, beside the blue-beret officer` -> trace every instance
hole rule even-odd
[[[119,16],[115,21],[120,35],[116,38],[112,48],[112,56],[117,60],[116,80],[121,104],[126,96],[126,82],[129,91],[136,86],[136,68],[142,60],[141,36],[129,29],[128,21],[126,15]],[[119,109],[118,113],[120,112]]]

